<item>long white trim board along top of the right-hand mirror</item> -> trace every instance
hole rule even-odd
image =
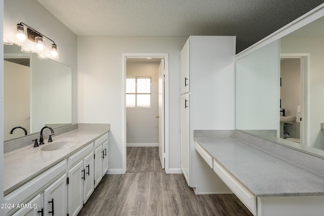
[[[243,58],[254,51],[271,44],[272,42],[286,36],[287,34],[301,28],[312,21],[322,17],[324,14],[324,4],[321,4],[314,8],[313,10],[309,11],[308,13],[304,14],[303,16],[297,18],[296,20],[292,21],[291,23],[285,25],[284,27],[278,29],[277,31],[273,32],[272,34],[268,35],[261,41],[255,43],[254,45],[248,47],[247,49],[241,51],[240,53],[234,56],[235,61]]]

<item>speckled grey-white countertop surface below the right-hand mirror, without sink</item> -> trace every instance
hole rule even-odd
[[[233,137],[195,137],[258,197],[324,195],[324,177]]]

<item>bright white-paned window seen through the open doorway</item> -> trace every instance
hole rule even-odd
[[[126,107],[151,107],[151,78],[126,78]]]

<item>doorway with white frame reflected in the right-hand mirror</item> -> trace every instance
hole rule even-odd
[[[296,117],[283,123],[280,134],[290,141],[309,145],[309,54],[280,54],[280,105],[285,116]],[[281,115],[281,114],[280,114]],[[282,131],[281,131],[282,130]]]

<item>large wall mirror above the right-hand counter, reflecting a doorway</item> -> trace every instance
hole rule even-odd
[[[235,128],[324,157],[322,47],[324,17],[236,59]]]

